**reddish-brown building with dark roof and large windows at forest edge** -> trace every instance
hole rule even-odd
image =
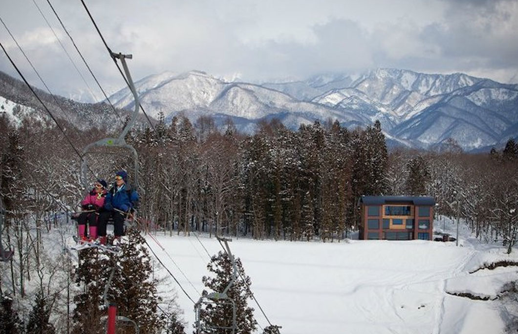
[[[363,240],[432,240],[433,197],[362,196],[359,198]]]

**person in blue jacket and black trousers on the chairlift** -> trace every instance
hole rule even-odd
[[[124,219],[138,204],[138,199],[138,193],[127,183],[127,173],[118,171],[104,201],[105,211],[99,214],[97,231],[100,243],[106,244],[106,223],[110,217],[113,217],[113,234],[118,242],[124,234]]]

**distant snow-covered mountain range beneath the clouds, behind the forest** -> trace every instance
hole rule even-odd
[[[230,117],[253,132],[263,119],[296,129],[314,120],[338,120],[349,128],[379,120],[393,144],[429,148],[449,138],[466,150],[501,146],[518,137],[518,85],[465,74],[423,74],[377,69],[359,76],[329,74],[305,81],[253,84],[226,82],[201,71],[164,72],[136,82],[141,104],[166,120],[183,113],[195,121]],[[132,108],[128,89],[110,97]]]

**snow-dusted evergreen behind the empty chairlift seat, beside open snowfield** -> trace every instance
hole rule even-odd
[[[252,293],[248,288],[251,280],[244,273],[241,260],[235,259],[237,267],[237,279],[228,288],[227,296],[232,299],[236,307],[236,334],[250,334],[257,325],[253,316],[253,308],[248,307],[247,300],[252,297]],[[225,252],[219,252],[211,258],[211,262],[207,265],[207,269],[215,274],[215,277],[204,276],[202,281],[212,292],[222,293],[232,280],[233,265]],[[240,279],[240,277],[242,279]],[[203,291],[203,295],[207,296],[209,292]],[[200,322],[203,326],[210,327],[232,327],[233,312],[230,303],[215,302],[208,304],[206,308],[200,311]],[[218,334],[229,334],[231,329],[220,329]]]

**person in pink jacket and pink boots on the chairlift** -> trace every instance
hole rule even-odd
[[[103,209],[104,199],[106,197],[107,183],[105,180],[99,179],[94,183],[94,188],[81,201],[83,211],[78,217],[78,234],[82,241],[97,239],[97,217],[99,211]],[[90,225],[89,234],[87,236],[87,221]]]

